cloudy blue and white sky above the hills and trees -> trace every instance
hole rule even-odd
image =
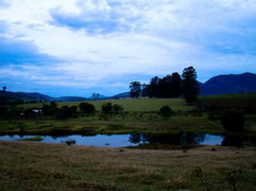
[[[256,71],[256,0],[0,0],[0,87],[115,95],[131,81]]]

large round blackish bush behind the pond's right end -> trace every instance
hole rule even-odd
[[[222,114],[221,123],[226,131],[241,131],[244,128],[245,117],[242,112],[226,111]]]

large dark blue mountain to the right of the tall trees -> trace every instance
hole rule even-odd
[[[201,84],[201,95],[223,95],[256,92],[256,74],[229,74],[212,77]]]

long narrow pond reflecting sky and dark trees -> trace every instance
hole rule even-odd
[[[0,136],[0,140],[17,141],[34,138],[36,135],[4,135]],[[68,136],[40,136],[42,143],[65,143],[68,140],[75,140],[76,145],[83,146],[100,146],[100,147],[126,147],[138,146],[141,143],[162,143],[170,145],[222,145],[222,146],[243,146],[248,144],[247,138],[229,137],[214,134],[118,134],[95,136],[85,135],[68,135]]]

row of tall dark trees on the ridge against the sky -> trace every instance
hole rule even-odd
[[[133,98],[178,98],[183,96],[188,103],[197,100],[200,94],[200,84],[196,80],[197,73],[193,66],[183,70],[182,75],[174,72],[171,75],[151,78],[149,84],[138,81],[130,83],[130,94]]]

